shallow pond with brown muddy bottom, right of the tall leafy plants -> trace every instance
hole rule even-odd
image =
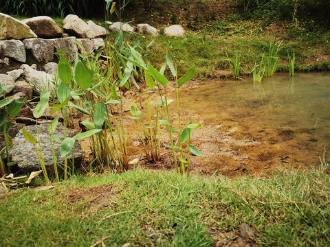
[[[305,169],[330,148],[330,73],[206,81],[181,89],[180,103],[183,121],[204,126],[191,138],[206,156],[192,158],[199,173]]]

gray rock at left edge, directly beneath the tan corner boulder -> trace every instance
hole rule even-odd
[[[26,61],[25,47],[20,40],[1,40],[0,47],[2,56],[14,58],[19,62]]]

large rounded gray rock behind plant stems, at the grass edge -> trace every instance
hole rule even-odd
[[[41,149],[43,152],[43,160],[45,161],[45,167],[47,169],[47,173],[50,176],[54,176],[54,163],[52,156],[52,148],[50,145],[50,137],[48,132],[47,124],[39,124],[39,140],[41,144]],[[26,126],[25,130],[27,130],[34,137],[37,137],[36,126]],[[55,135],[58,135],[61,140],[63,140],[63,126],[58,125],[56,130],[54,131]],[[74,130],[67,130],[67,137],[73,137],[75,135]],[[22,130],[20,130],[16,137],[13,139],[14,146],[10,149],[9,154],[11,161],[17,162],[19,168],[25,172],[30,173],[34,171],[38,171],[41,169],[38,156],[36,156],[36,150],[34,149],[34,145],[27,141],[25,137],[23,137]],[[58,163],[58,169],[63,167],[64,158],[61,157],[61,143],[54,141],[54,149]],[[81,164],[83,158],[83,152],[81,151],[80,144],[76,141],[74,147],[74,166],[78,168]],[[72,152],[69,154],[68,165],[71,165],[72,161]],[[63,170],[59,171],[60,174],[63,174]]]

